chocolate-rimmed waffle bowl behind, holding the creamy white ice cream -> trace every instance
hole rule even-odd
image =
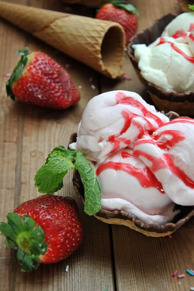
[[[160,87],[145,80],[138,68],[138,61],[134,57],[133,45],[146,44],[148,46],[154,42],[158,37],[161,36],[164,28],[175,18],[172,14],[167,14],[162,18],[155,21],[153,26],[145,29],[143,32],[138,33],[134,36],[128,46],[128,55],[134,66],[139,80],[143,83],[149,92],[149,95],[155,104],[155,106],[164,112],[174,111],[180,115],[194,116],[194,92],[165,92]]]

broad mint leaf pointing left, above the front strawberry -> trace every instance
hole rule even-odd
[[[63,187],[63,178],[69,169],[74,169],[72,160],[76,151],[63,146],[56,147],[35,175],[35,186],[40,193],[54,194]]]

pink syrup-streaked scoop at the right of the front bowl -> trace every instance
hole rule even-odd
[[[180,117],[134,144],[134,155],[161,182],[176,204],[194,205],[194,119]]]

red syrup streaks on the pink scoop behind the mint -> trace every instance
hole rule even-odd
[[[130,96],[125,95],[124,93],[118,92],[115,96],[115,99],[117,101],[116,105],[123,104],[123,105],[131,105],[133,107],[136,107],[143,113],[145,117],[153,119],[158,124],[158,126],[163,125],[162,120],[158,116],[149,112],[145,106],[143,106],[139,101],[135,100],[133,97],[130,97]],[[139,129],[138,138],[142,138],[143,135],[147,135],[148,132],[152,133],[155,130],[153,125],[144,116],[132,113],[126,108],[122,110],[121,114],[122,114],[122,117],[124,118],[124,126],[120,131],[120,135],[125,133],[130,128],[131,124],[133,124],[137,129]],[[148,130],[145,131],[143,129],[143,126],[139,124],[136,120],[134,120],[133,117],[141,117],[143,120],[145,120],[148,126]],[[111,153],[114,153],[117,149],[119,149],[121,142],[126,145],[131,144],[131,140],[126,139],[124,137],[116,137],[115,135],[111,135],[108,138],[108,141],[112,143],[113,145]]]

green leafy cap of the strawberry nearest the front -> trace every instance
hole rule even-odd
[[[44,255],[47,249],[42,227],[35,227],[35,221],[30,216],[22,215],[21,219],[14,212],[8,213],[7,220],[8,223],[0,223],[0,235],[6,238],[6,245],[17,250],[21,271],[30,272],[37,269],[38,258]]]

